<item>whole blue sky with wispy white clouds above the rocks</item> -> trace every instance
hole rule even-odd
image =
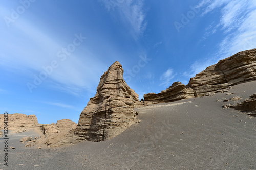
[[[3,0],[0,16],[0,113],[42,124],[77,123],[115,61],[141,99],[256,47],[254,0]]]

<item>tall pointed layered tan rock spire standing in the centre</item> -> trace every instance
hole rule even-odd
[[[90,141],[111,139],[135,123],[138,94],[123,80],[115,62],[100,78],[97,92],[80,114],[75,134]]]

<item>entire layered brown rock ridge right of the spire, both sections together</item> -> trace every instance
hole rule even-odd
[[[145,102],[153,103],[172,102],[214,94],[230,86],[253,80],[256,80],[256,49],[242,51],[220,60],[190,78],[186,86],[175,82],[161,93],[144,94],[144,99]]]

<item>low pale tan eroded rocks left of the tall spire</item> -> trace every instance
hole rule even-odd
[[[8,114],[8,130],[11,133],[21,133],[29,129],[36,129],[37,132],[41,133],[41,136],[36,139],[29,138],[21,141],[27,142],[26,147],[33,145],[47,145],[50,147],[60,147],[61,145],[78,143],[81,140],[78,136],[74,135],[74,130],[77,124],[70,119],[58,120],[57,123],[52,124],[38,124],[35,115],[26,114]],[[0,115],[0,128],[4,129],[4,115]],[[10,133],[10,132],[8,132]],[[1,133],[0,133],[0,136]]]

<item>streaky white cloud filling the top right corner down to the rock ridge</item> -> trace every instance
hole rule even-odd
[[[194,77],[206,67],[216,64],[219,60],[240,51],[256,48],[256,1],[254,0],[202,0],[197,7],[203,8],[202,17],[220,11],[218,20],[213,20],[205,28],[202,39],[219,32],[224,34],[217,45],[218,52],[203,62],[195,61],[186,77]]]

